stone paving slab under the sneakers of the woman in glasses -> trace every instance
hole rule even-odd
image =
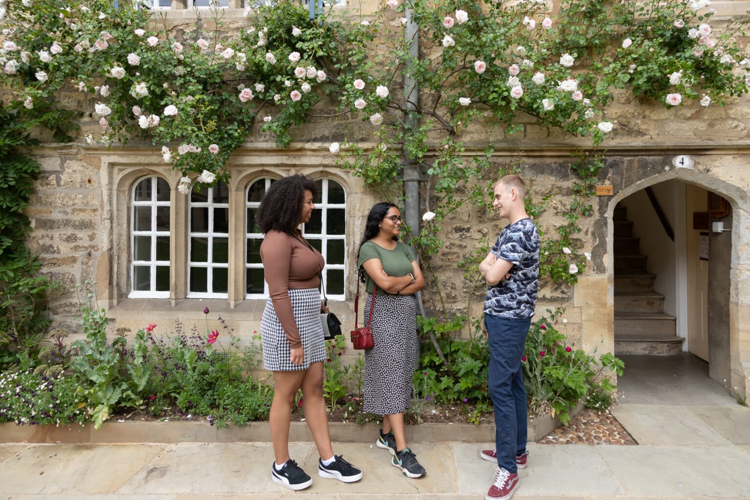
[[[313,485],[305,492],[365,494],[383,491],[384,484],[387,484],[387,492],[392,494],[452,493],[456,491],[456,472],[450,445],[416,444],[412,450],[419,463],[427,471],[427,475],[423,478],[405,477],[401,473],[401,469],[391,465],[391,454],[375,445],[334,443],[336,454],[343,454],[346,460],[364,472],[361,481],[343,484],[341,481],[324,479],[317,475],[317,463],[320,457],[317,449],[311,446],[310,455],[308,460],[305,461],[305,472],[313,478]],[[284,487],[275,486],[278,490],[284,489]]]

